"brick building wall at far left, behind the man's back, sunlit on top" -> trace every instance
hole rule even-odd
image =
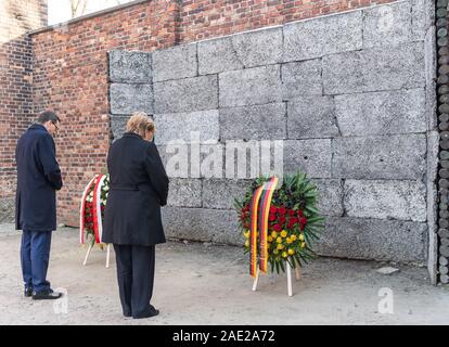
[[[0,1],[0,205],[15,193],[15,144],[31,121],[29,30],[47,25],[47,0]],[[0,220],[12,213],[0,210]]]

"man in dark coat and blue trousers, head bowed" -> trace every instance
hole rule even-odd
[[[23,230],[21,245],[25,296],[33,299],[57,299],[47,281],[52,231],[56,229],[56,194],[62,188],[61,170],[55,158],[52,136],[60,118],[43,112],[37,124],[21,137],[15,150],[17,190],[15,228]]]

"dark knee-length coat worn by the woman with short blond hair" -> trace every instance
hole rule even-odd
[[[149,246],[165,242],[161,206],[168,177],[153,142],[126,132],[107,154],[111,188],[102,242]]]

